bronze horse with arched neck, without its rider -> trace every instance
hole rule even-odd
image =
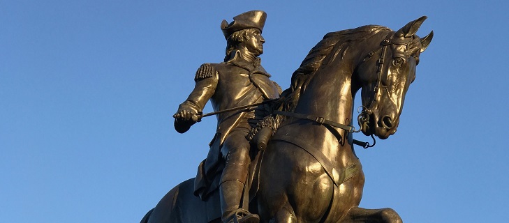
[[[263,153],[259,190],[249,203],[260,222],[401,222],[390,208],[358,207],[364,174],[353,151],[353,101],[362,89],[364,134],[386,139],[396,132],[420,53],[433,38],[432,31],[415,35],[425,19],[398,31],[371,25],[327,33],[311,49],[281,95],[282,112],[275,112],[282,121]],[[186,180],[142,222],[209,222],[217,217],[214,197],[201,201],[193,179]]]

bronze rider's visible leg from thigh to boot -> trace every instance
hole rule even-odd
[[[225,160],[225,167],[219,185],[221,198],[221,212],[223,222],[228,222],[232,215],[239,215],[239,222],[258,222],[258,216],[247,212],[248,207],[242,207],[242,197],[249,170],[249,141],[246,132],[234,131],[228,134],[221,153]],[[242,210],[244,209],[244,210]]]

